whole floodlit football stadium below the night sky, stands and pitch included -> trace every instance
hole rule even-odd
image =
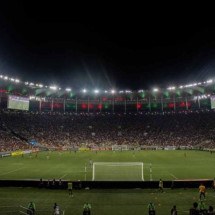
[[[214,92],[213,79],[73,90],[0,75],[0,214],[209,214]]]

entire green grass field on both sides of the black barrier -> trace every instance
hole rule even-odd
[[[149,165],[152,164],[153,180],[212,179],[215,177],[215,154],[204,151],[100,151],[95,152],[41,152],[24,157],[0,159],[0,179],[59,179],[92,180],[93,162],[143,162],[144,178],[150,179]],[[85,176],[85,166],[87,174]],[[198,189],[156,189],[124,190],[74,190],[69,197],[67,190],[39,188],[0,188],[0,214],[19,214],[19,206],[29,201],[36,204],[37,215],[51,215],[57,202],[65,210],[65,215],[81,215],[83,204],[92,204],[92,215],[142,215],[147,213],[147,205],[153,201],[158,215],[170,214],[176,204],[181,215],[194,201],[198,201]],[[207,188],[206,205],[214,205],[215,192]]]

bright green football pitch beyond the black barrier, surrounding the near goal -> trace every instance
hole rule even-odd
[[[212,179],[215,153],[206,151],[41,152],[0,159],[0,179],[92,180],[93,162],[143,162],[144,179]],[[85,174],[86,167],[86,174]],[[122,177],[122,176],[119,176]],[[107,178],[108,180],[108,178]]]

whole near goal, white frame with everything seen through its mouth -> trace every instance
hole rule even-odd
[[[92,181],[144,181],[143,162],[94,162]]]

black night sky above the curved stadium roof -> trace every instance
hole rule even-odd
[[[134,90],[214,77],[210,12],[157,6],[1,3],[0,73]]]

